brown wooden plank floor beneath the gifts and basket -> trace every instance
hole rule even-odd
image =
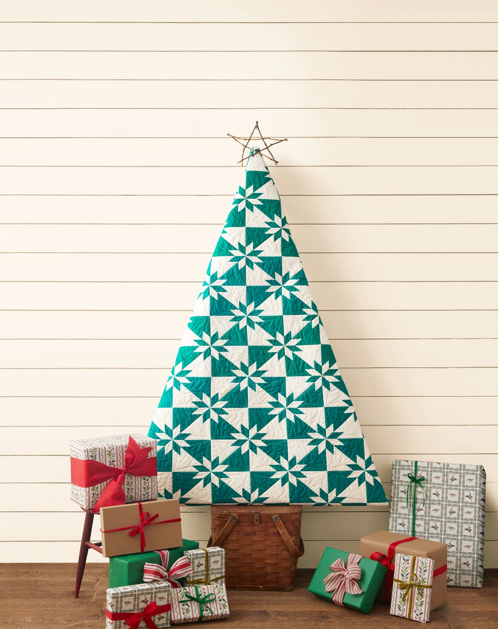
[[[2,564],[0,626],[13,629],[102,629],[108,566],[88,564],[79,598],[73,595],[74,564]],[[404,628],[406,620],[376,603],[370,615],[340,608],[307,591],[312,570],[297,571],[294,592],[229,592],[226,629]],[[431,614],[431,629],[498,628],[498,570],[485,571],[483,589],[448,589],[448,602]],[[222,625],[223,623],[223,625]],[[204,626],[204,625],[203,625]],[[211,625],[210,625],[211,626]],[[214,625],[213,625],[214,626]],[[413,625],[414,626],[414,625]]]

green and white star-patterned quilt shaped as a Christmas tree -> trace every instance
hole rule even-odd
[[[184,504],[387,504],[258,150],[149,435]]]

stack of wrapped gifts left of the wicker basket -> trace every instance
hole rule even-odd
[[[156,441],[118,435],[70,450],[71,498],[101,516],[106,629],[226,618],[224,550],[183,539],[179,500],[157,499]]]

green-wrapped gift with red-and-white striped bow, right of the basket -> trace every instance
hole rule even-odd
[[[377,561],[327,547],[308,589],[315,596],[368,614],[385,571]]]

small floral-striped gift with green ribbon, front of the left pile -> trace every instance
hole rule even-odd
[[[171,619],[174,625],[218,620],[229,614],[223,583],[171,589]]]

